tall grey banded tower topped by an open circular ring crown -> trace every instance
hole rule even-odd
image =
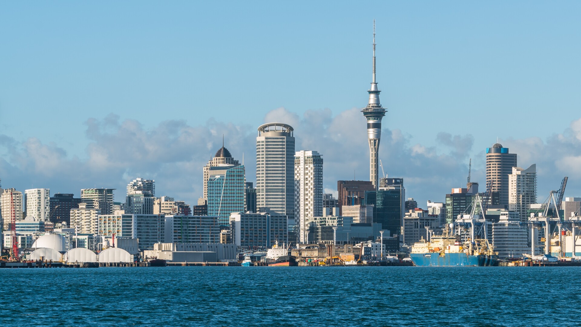
[[[258,127],[256,137],[256,207],[295,219],[295,137],[283,123]]]

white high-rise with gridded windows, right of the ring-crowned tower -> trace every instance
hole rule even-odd
[[[295,219],[299,242],[306,243],[309,218],[323,214],[323,159],[317,151],[295,154]]]

